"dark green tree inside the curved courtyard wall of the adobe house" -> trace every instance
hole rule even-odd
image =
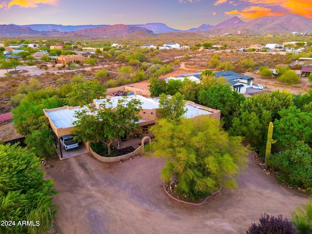
[[[74,117],[77,120],[73,122],[75,128],[72,133],[78,135],[77,139],[103,142],[110,154],[111,145],[115,140],[118,141],[119,136],[138,128],[140,110],[141,102],[136,98],[118,99],[116,106],[107,98],[100,109],[87,106],[76,112]]]

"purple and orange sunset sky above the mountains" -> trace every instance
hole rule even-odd
[[[187,30],[238,16],[298,14],[312,20],[312,0],[0,0],[0,24],[165,23]]]

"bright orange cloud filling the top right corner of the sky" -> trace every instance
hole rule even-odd
[[[283,14],[292,13],[312,20],[311,0],[242,0],[260,6],[279,6],[283,9]],[[276,13],[278,14],[278,13]]]

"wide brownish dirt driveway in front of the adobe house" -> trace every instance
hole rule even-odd
[[[59,194],[56,222],[62,234],[243,234],[261,214],[291,212],[308,195],[278,184],[262,173],[251,154],[238,178],[239,188],[222,190],[202,206],[185,205],[165,195],[163,160],[141,156],[102,163],[81,155],[44,169]]]

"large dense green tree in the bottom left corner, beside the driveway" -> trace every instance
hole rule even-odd
[[[27,226],[18,225],[26,220],[39,221],[36,233],[45,233],[47,222],[52,222],[56,191],[52,180],[43,179],[39,167],[33,152],[17,145],[0,145],[0,219],[15,221],[14,226],[1,225],[0,233],[27,233]],[[30,219],[30,213],[36,219]]]

